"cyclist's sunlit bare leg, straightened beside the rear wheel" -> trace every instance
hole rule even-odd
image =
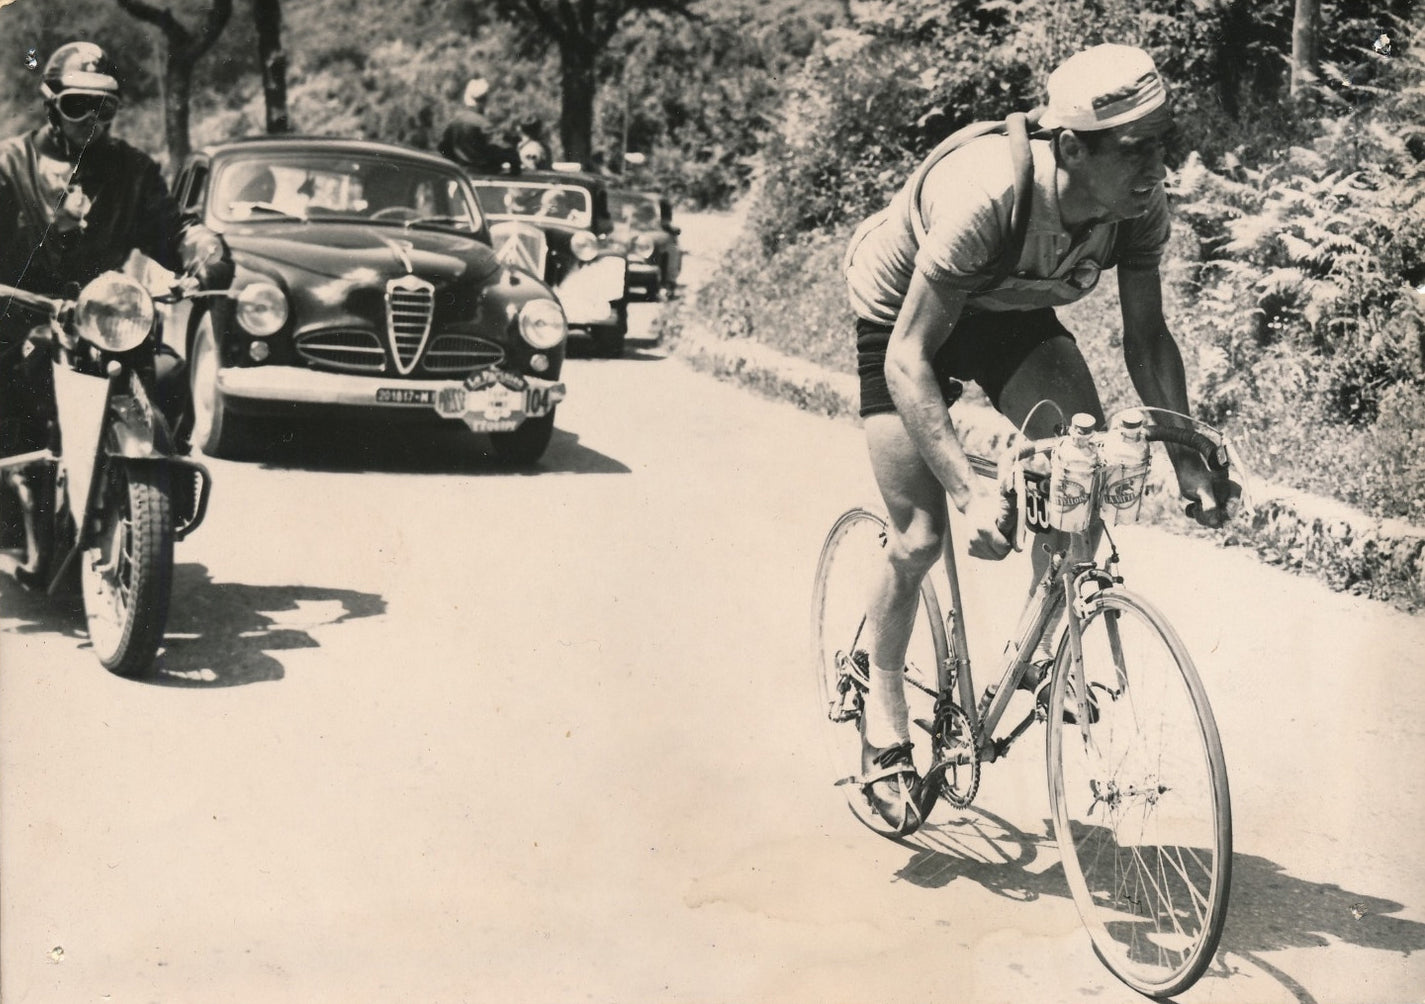
[[[872,681],[865,708],[866,741],[884,748],[909,738],[905,652],[915,625],[921,582],[940,557],[949,510],[945,488],[911,441],[899,414],[872,414],[864,426],[871,469],[889,517],[886,561],[871,582],[866,604]]]

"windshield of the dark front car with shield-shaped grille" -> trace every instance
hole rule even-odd
[[[480,211],[459,175],[418,161],[319,151],[224,161],[212,184],[218,219],[351,219],[475,232]]]

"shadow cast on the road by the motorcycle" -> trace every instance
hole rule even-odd
[[[318,648],[309,628],[383,612],[386,601],[369,592],[214,582],[204,565],[178,565],[164,648],[144,682],[217,688],[282,679],[282,664],[268,652]]]

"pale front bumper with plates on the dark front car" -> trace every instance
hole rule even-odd
[[[493,370],[466,380],[416,382],[295,366],[241,366],[218,370],[218,393],[234,410],[247,413],[362,409],[459,420],[475,432],[512,432],[526,419],[554,410],[564,400],[564,385]]]

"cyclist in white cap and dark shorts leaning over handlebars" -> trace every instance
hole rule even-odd
[[[911,225],[908,185],[846,251],[861,414],[891,517],[868,604],[861,766],[871,805],[891,826],[918,822],[902,666],[921,581],[948,531],[946,494],[968,517],[972,555],[1010,550],[996,528],[1003,498],[978,486],[946,407],[959,397],[959,380],[975,380],[1016,427],[1043,399],[1066,416],[1087,412],[1102,422],[1093,376],[1054,306],[1087,295],[1116,266],[1123,356],[1139,396],[1188,407],[1159,279],[1168,236],[1164,81],[1143,50],[1096,46],[1060,64],[1047,91],[1040,125],[1050,138],[1030,141],[1032,205],[1013,268],[998,261],[1015,204],[1012,140],[1003,135],[973,140],[928,171],[916,209],[922,239]],[[1056,419],[1040,409],[1026,434],[1053,434]],[[1217,525],[1206,466],[1188,450],[1170,454],[1180,493],[1198,501],[1200,521]],[[1036,548],[1036,578],[1046,561]]]

